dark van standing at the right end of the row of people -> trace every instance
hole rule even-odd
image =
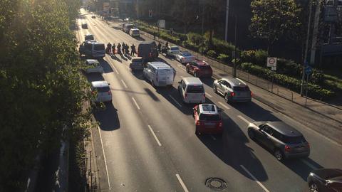
[[[158,50],[155,41],[142,42],[138,46],[138,57],[144,60],[144,63],[155,60],[158,57]]]

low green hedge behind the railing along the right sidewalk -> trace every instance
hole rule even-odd
[[[272,75],[274,76],[274,82],[278,85],[282,85],[284,87],[288,87],[290,90],[295,92],[300,92],[301,90],[301,80],[296,78],[291,78],[287,75],[274,73],[267,68],[263,68],[259,65],[253,65],[252,63],[242,63],[241,64],[242,70],[252,74],[257,75],[261,78],[266,80],[271,80]],[[309,83],[309,91],[308,95],[314,97],[316,99],[323,99],[331,97],[335,94],[330,90],[323,89],[321,86]]]

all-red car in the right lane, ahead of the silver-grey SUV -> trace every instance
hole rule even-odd
[[[194,75],[195,78],[211,78],[212,68],[204,60],[194,60],[187,63],[187,73]]]

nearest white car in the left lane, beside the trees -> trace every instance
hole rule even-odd
[[[111,102],[112,92],[109,83],[105,80],[91,82],[91,93],[96,95],[94,102]]]

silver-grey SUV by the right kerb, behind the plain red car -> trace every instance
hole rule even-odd
[[[224,96],[226,102],[250,102],[253,92],[248,85],[238,78],[222,78],[214,80],[212,85],[214,92]]]

